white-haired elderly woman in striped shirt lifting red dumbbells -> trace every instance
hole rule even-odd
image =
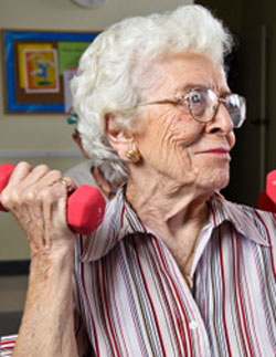
[[[72,86],[84,147],[125,183],[76,237],[61,172],[17,167],[2,201],[32,270],[14,356],[275,356],[275,217],[219,193],[245,119],[231,42],[185,6],[117,23],[84,53]]]

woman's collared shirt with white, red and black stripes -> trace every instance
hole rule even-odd
[[[121,190],[91,239],[78,237],[79,356],[276,356],[276,214],[216,193],[209,203],[191,290]]]

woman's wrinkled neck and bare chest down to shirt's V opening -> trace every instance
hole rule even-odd
[[[183,275],[191,272],[197,240],[208,221],[209,196],[167,177],[142,180],[136,176],[127,183],[128,202],[144,224],[167,245]]]

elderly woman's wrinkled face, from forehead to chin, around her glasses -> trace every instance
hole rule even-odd
[[[182,96],[193,86],[209,87],[219,96],[230,93],[222,65],[206,55],[177,54],[160,67],[160,82],[147,102]],[[146,125],[135,135],[135,141],[146,168],[201,191],[227,185],[235,136],[223,104],[208,124],[195,122],[187,106],[172,103],[145,106],[142,111]]]

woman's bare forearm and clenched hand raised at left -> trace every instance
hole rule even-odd
[[[1,193],[2,204],[29,240],[32,266],[13,356],[75,357],[72,272],[75,234],[66,223],[60,171],[21,162]],[[72,182],[73,185],[73,182]]]

